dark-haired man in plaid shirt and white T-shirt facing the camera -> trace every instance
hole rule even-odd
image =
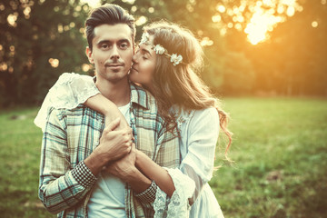
[[[131,164],[132,140],[156,163],[176,167],[178,139],[165,131],[154,97],[128,82],[133,16],[118,5],[103,5],[94,9],[85,25],[95,84],[121,109],[132,129],[115,130],[119,120],[104,129],[104,115],[83,104],[72,110],[52,109],[43,137],[39,197],[58,217],[153,216],[156,184]],[[123,181],[105,171],[112,165],[124,169]]]

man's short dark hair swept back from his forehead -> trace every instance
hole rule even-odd
[[[92,40],[94,39],[94,28],[98,25],[128,25],[132,30],[132,39],[135,37],[134,16],[128,14],[123,7],[114,4],[106,4],[94,8],[85,22],[85,34],[87,43],[92,51]]]

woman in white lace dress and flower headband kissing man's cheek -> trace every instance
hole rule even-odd
[[[231,144],[231,133],[227,129],[227,114],[197,75],[203,67],[201,45],[190,31],[178,25],[154,23],[144,27],[133,61],[130,80],[154,94],[159,114],[168,129],[177,128],[180,136],[182,163],[179,169],[163,169],[136,151],[135,165],[158,185],[155,216],[223,217],[208,182],[213,174],[219,126],[229,138],[226,152]],[[67,91],[72,94],[68,99]],[[58,93],[59,99],[55,99]],[[45,98],[45,106],[35,118],[35,124],[45,125],[47,104],[74,108],[82,103],[103,113],[106,123],[117,116],[122,117],[117,107],[99,94],[92,77],[64,74]],[[121,127],[125,125],[121,123]],[[152,170],[154,168],[149,165],[158,170]],[[167,180],[165,176],[171,179]],[[189,205],[192,207],[188,212]]]

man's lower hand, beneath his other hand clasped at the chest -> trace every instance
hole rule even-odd
[[[104,172],[113,174],[114,176],[128,183],[129,176],[132,176],[136,170],[135,160],[136,148],[135,144],[132,144],[131,152],[126,154],[122,159],[115,161],[114,163],[110,163],[104,167]]]

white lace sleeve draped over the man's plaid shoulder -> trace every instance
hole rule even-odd
[[[99,93],[91,76],[64,73],[46,94],[45,100],[35,117],[35,125],[45,132],[45,123],[51,107],[73,109]]]

